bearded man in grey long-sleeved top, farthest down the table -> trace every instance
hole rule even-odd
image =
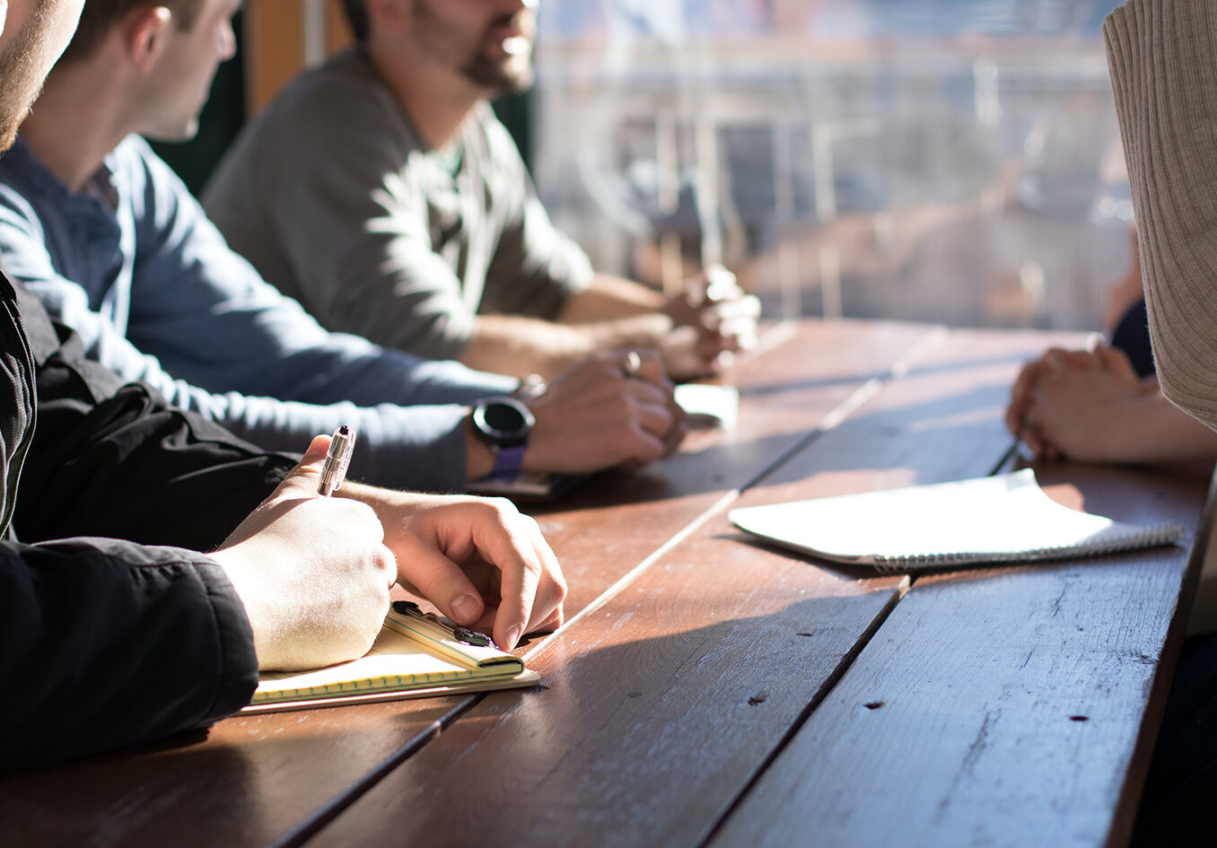
[[[658,348],[674,378],[756,332],[724,269],[666,299],[595,274],[538,201],[488,97],[533,78],[535,0],[346,0],[358,49],[305,73],[224,159],[204,204],[323,324],[514,376]]]

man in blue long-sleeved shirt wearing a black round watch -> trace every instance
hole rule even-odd
[[[604,353],[523,397],[518,380],[325,330],[224,243],[135,134],[195,133],[239,5],[91,0],[0,162],[6,269],[86,355],[268,450],[354,426],[350,473],[380,485],[455,492],[674,450],[683,414],[655,354]]]

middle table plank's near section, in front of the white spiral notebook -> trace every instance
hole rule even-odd
[[[308,844],[699,844],[901,591],[722,521],[532,659],[546,690],[488,697]]]

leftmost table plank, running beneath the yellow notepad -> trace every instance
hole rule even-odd
[[[744,392],[734,432],[696,436],[655,468],[605,476],[570,506],[539,516],[574,588],[568,610],[594,602],[724,492],[797,445],[927,332],[884,324],[772,331],[767,348],[729,375]],[[312,821],[325,820],[475,702],[234,718],[206,739],[0,777],[0,819],[18,822],[0,833],[0,844],[259,846],[307,833]]]

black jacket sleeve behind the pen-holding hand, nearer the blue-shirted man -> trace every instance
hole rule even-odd
[[[22,541],[103,535],[213,550],[291,468],[86,360],[75,335],[17,291],[38,380],[13,517]]]

